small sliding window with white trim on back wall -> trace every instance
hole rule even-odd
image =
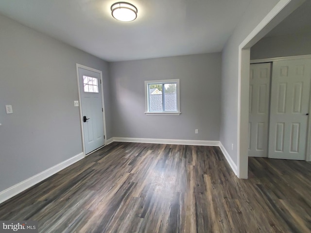
[[[145,114],[179,115],[179,79],[145,81]]]

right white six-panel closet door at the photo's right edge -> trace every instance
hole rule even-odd
[[[269,158],[305,160],[311,59],[273,62]]]

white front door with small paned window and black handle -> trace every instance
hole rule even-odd
[[[104,146],[104,120],[101,75],[78,68],[85,153]]]

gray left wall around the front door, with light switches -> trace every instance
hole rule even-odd
[[[108,64],[0,15],[0,191],[82,152],[76,63],[103,71],[109,138]]]

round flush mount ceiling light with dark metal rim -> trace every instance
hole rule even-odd
[[[119,1],[111,5],[111,15],[122,22],[130,22],[137,17],[137,8],[131,3]]]

